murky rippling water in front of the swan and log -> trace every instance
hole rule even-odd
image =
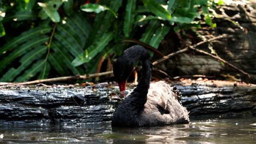
[[[110,122],[95,124],[0,126],[0,143],[176,143],[256,144],[256,117],[190,118],[190,124],[148,128],[112,128]],[[2,135],[1,135],[2,134]]]

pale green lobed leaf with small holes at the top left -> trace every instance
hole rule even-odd
[[[38,2],[38,5],[43,8],[42,10],[53,22],[60,22],[60,15],[57,10],[62,5],[62,0],[50,0],[45,3]],[[42,18],[42,16],[40,17]]]

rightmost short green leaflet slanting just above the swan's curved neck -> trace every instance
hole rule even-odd
[[[157,49],[159,44],[162,42],[165,35],[168,34],[169,31],[170,27],[162,24],[162,26],[160,26],[156,30],[155,34],[150,39],[149,45]]]

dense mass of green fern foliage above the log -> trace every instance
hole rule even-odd
[[[208,12],[214,4],[213,0],[0,0],[0,82],[95,73],[102,60],[127,48],[127,40],[158,48],[170,30],[200,28],[202,17],[204,24],[214,27]]]

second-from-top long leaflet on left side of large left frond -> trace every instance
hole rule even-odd
[[[0,71],[3,68],[5,68],[8,64],[10,64],[10,62],[12,62],[14,59],[18,58],[19,56],[22,56],[23,54],[26,54],[26,52],[28,52],[32,48],[44,44],[48,41],[48,39],[49,37],[45,35],[35,37],[27,41],[26,43],[22,44],[21,46],[17,47],[13,52],[11,52],[7,57],[5,57],[1,61]]]

